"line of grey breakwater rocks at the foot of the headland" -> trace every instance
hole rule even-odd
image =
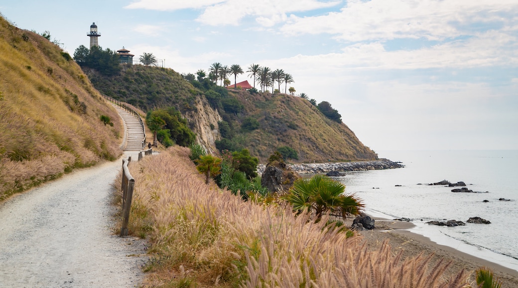
[[[257,173],[262,174],[265,169],[264,164],[257,165]],[[389,159],[379,159],[373,161],[358,161],[358,162],[337,162],[337,163],[302,163],[302,164],[288,164],[293,171],[299,174],[321,174],[332,171],[333,175],[341,175],[340,172],[347,171],[367,171],[367,170],[384,170],[405,167]]]

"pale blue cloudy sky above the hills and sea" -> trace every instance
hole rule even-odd
[[[95,22],[103,49],[179,73],[283,69],[374,151],[518,149],[516,0],[0,0],[0,13],[70,55]]]

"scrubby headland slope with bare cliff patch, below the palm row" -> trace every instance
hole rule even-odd
[[[327,119],[306,99],[269,92],[227,91],[208,79],[191,84],[175,71],[159,67],[126,66],[113,76],[84,70],[100,92],[145,111],[177,108],[189,120],[198,141],[210,151],[216,151],[216,140],[224,137],[227,139],[223,139],[223,147],[247,148],[262,163],[284,146],[298,153],[298,159],[291,162],[377,159],[347,125]],[[243,121],[258,126],[246,129]],[[221,125],[227,127],[229,135],[220,133]]]

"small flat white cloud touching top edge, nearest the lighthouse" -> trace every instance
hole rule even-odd
[[[138,0],[131,3],[130,5],[125,6],[124,8],[159,11],[172,11],[179,9],[201,9],[224,1],[225,0]]]

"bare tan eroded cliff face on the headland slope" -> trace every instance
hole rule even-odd
[[[217,154],[216,140],[221,136],[218,131],[218,122],[222,120],[218,110],[210,107],[205,98],[198,98],[193,111],[185,111],[183,117],[189,121],[191,130],[196,134],[196,141],[210,154]]]

